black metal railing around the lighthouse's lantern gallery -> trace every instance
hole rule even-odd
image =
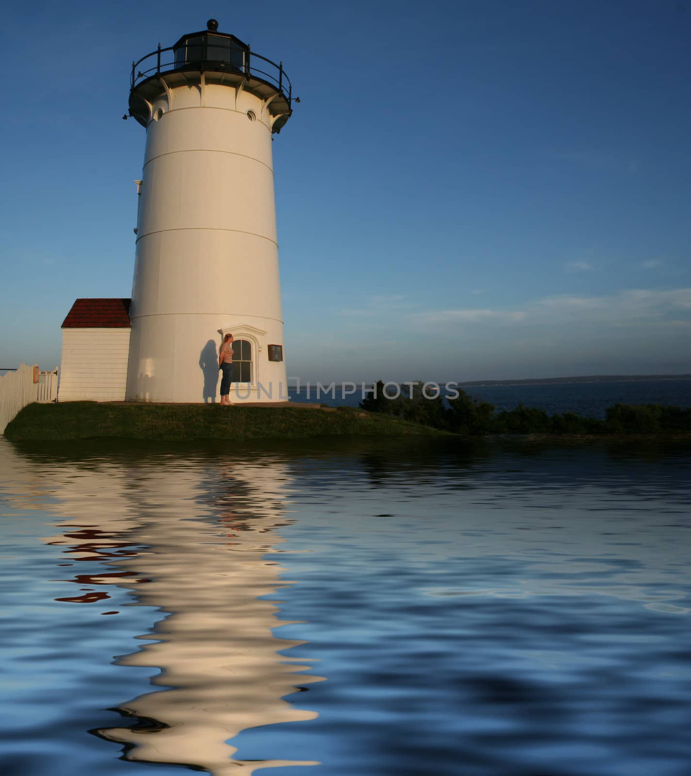
[[[265,81],[277,88],[290,108],[293,86],[286,71],[283,70],[283,62],[276,64],[262,57],[261,54],[250,52],[249,47],[238,46],[232,41],[223,45],[215,43],[214,39],[220,39],[220,37],[201,33],[168,48],[161,48],[159,43],[158,49],[132,63],[130,88],[134,88],[153,75],[172,70],[240,72],[245,74],[246,78],[259,78],[260,81]],[[225,54],[228,57],[227,61],[221,58]]]

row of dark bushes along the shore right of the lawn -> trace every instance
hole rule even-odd
[[[606,417],[582,417],[575,412],[547,414],[536,407],[519,404],[513,410],[496,411],[494,404],[470,397],[462,390],[454,399],[439,396],[428,399],[422,394],[422,382],[415,383],[412,395],[388,399],[384,382],[360,402],[368,412],[423,424],[452,434],[691,434],[691,407],[661,404],[614,404]]]

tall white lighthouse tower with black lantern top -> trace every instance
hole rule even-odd
[[[217,28],[210,19],[132,68],[130,116],[147,139],[130,400],[213,400],[227,332],[231,401],[286,398],[271,145],[291,86],[283,64]]]

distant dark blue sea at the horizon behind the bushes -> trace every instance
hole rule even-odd
[[[368,384],[369,385],[369,384]],[[346,388],[346,391],[350,388]],[[390,389],[395,393],[394,387]],[[407,388],[403,389],[408,391]],[[467,386],[462,387],[470,396],[491,402],[498,410],[512,410],[519,404],[555,412],[576,412],[586,417],[605,417],[607,407],[622,404],[691,405],[691,379],[622,380],[613,383],[535,383],[533,385]],[[358,387],[356,394],[343,394],[341,386],[332,395],[317,397],[316,384],[308,396],[304,386],[300,392],[289,390],[293,401],[318,401],[337,407],[346,404],[356,407],[362,400]],[[429,390],[432,394],[432,389]]]

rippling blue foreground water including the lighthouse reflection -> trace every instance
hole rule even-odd
[[[691,449],[0,438],[8,776],[682,776]]]

